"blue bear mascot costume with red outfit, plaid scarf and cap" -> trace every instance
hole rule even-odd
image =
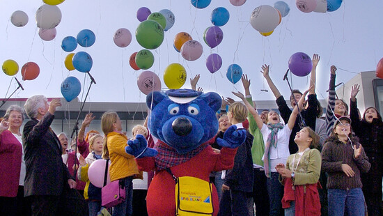
[[[221,108],[221,97],[217,93],[191,89],[155,91],[148,94],[146,103],[151,110],[148,128],[158,141],[154,148],[148,148],[146,139],[137,135],[128,141],[125,150],[136,157],[139,169],[155,170],[146,198],[148,215],[174,216],[175,180],[171,173],[209,181],[212,171],[233,168],[237,147],[246,139],[246,132],[236,130],[234,125],[228,128],[224,139],[217,140],[223,146],[220,153],[214,153],[206,144],[218,130],[216,112]],[[214,185],[211,201],[211,215],[217,215],[219,201]]]

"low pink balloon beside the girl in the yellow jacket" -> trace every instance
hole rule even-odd
[[[96,187],[104,187],[104,175],[105,175],[105,165],[107,164],[107,160],[99,159],[95,160],[89,166],[88,169],[88,178],[91,181],[93,185]],[[110,168],[110,161],[109,161],[109,168]],[[109,176],[109,168],[108,168],[108,176],[107,176],[107,183],[110,183],[111,179]]]

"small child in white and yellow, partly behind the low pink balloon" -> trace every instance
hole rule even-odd
[[[98,159],[102,159],[103,137],[95,134],[89,140],[89,154],[85,160],[80,160],[80,168],[77,176],[80,180],[86,181],[84,198],[88,199],[89,216],[95,216],[101,209],[101,188],[95,187],[88,179],[88,169]]]

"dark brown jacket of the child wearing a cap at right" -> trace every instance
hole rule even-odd
[[[322,171],[327,172],[327,189],[353,189],[361,188],[361,172],[368,172],[371,164],[368,162],[368,157],[361,149],[361,155],[358,158],[354,157],[354,149],[351,145],[356,145],[359,148],[359,139],[357,137],[350,138],[352,142],[347,141],[343,144],[342,141],[335,137],[329,137],[326,140],[325,146],[322,149]],[[348,164],[355,172],[354,176],[347,177],[342,170],[342,164]]]

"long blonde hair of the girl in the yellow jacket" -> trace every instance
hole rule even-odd
[[[107,136],[109,132],[113,132],[114,130],[114,123],[116,123],[118,118],[118,115],[116,111],[106,111],[104,114],[102,114],[101,117],[101,129],[102,132],[104,132],[104,148],[102,151],[102,158],[109,159],[109,150],[108,150],[108,144],[107,144]]]

